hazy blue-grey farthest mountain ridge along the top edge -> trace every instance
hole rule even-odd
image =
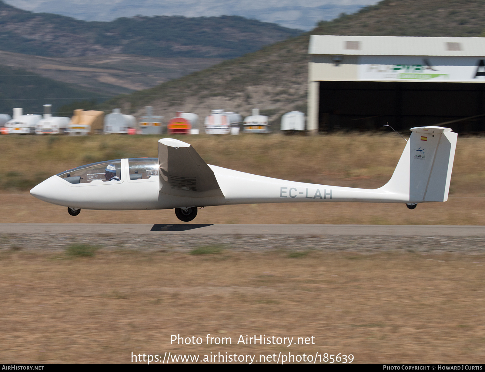
[[[136,15],[243,16],[284,27],[311,30],[322,19],[354,13],[376,0],[6,0],[34,12],[56,13],[87,21]]]

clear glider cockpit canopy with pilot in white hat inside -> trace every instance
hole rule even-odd
[[[123,182],[125,174],[129,175],[126,178],[130,181],[158,180],[158,172],[158,158],[131,158],[86,164],[58,173],[56,176],[73,184],[93,181],[99,184],[100,182]]]

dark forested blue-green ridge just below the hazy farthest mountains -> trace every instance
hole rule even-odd
[[[300,34],[240,16],[134,16],[86,22],[0,1],[0,50],[40,56],[234,58]]]

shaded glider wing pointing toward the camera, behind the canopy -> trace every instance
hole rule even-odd
[[[210,169],[194,147],[165,138],[158,142],[160,192],[174,196],[224,196]]]

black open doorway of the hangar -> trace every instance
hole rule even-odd
[[[475,83],[321,81],[318,129],[381,130],[388,122],[406,130],[460,120],[447,126],[458,133],[483,132],[484,88]]]

